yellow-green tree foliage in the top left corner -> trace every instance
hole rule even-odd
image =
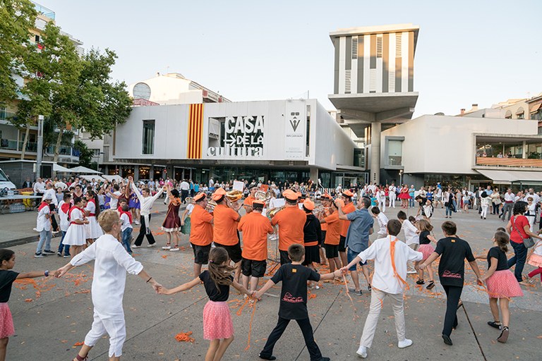
[[[37,11],[30,0],[0,0],[0,103],[18,99],[20,66],[30,45],[29,30],[34,27]]]

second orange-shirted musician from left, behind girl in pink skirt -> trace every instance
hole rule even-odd
[[[212,240],[217,247],[224,247],[227,250],[229,259],[235,264],[235,280],[239,281],[241,276],[241,244],[237,236],[237,223],[241,220],[238,203],[232,204],[226,197],[224,188],[217,188],[212,194],[212,200],[217,202],[212,212],[214,218]]]

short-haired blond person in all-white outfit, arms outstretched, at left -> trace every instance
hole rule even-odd
[[[115,238],[115,235],[121,231],[119,214],[113,209],[108,209],[102,212],[99,221],[106,234],[73,257],[66,266],[61,267],[54,274],[56,277],[61,277],[73,267],[95,261],[92,280],[94,322],[78,355],[73,359],[75,361],[87,360],[89,351],[105,334],[109,334],[109,360],[120,360],[122,346],[126,341],[126,322],[122,307],[126,272],[137,274],[155,290],[158,290],[160,286],[143,270],[140,262],[128,255],[123,245]]]

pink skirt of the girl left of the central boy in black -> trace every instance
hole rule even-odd
[[[217,340],[234,336],[227,302],[207,301],[203,308],[203,338]]]

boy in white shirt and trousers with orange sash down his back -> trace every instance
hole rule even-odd
[[[342,267],[343,274],[347,274],[349,267],[358,262],[366,262],[368,259],[375,260],[375,272],[373,274],[373,290],[371,292],[371,307],[363,327],[363,334],[359,341],[359,349],[356,354],[361,358],[367,357],[367,349],[371,348],[375,336],[376,325],[380,317],[383,300],[386,296],[392,302],[397,331],[397,347],[406,348],[412,345],[412,341],[405,337],[403,292],[406,284],[406,262],[421,261],[423,254],[416,252],[397,239],[401,224],[397,219],[387,223],[387,237],[375,240],[371,247],[361,252],[346,267]]]

